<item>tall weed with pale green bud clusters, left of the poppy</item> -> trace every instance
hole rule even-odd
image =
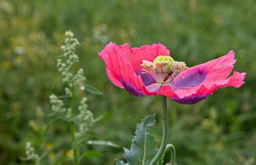
[[[93,154],[93,152],[87,152],[83,150],[82,143],[88,145],[108,145],[117,146],[109,141],[93,141],[92,134],[90,130],[93,124],[102,118],[94,118],[93,113],[88,110],[88,105],[86,104],[87,98],[79,96],[79,90],[86,90],[95,95],[102,95],[102,93],[94,88],[93,86],[84,83],[86,78],[84,77],[83,68],[76,70],[76,63],[79,62],[79,57],[75,53],[79,42],[77,38],[74,37],[72,31],[66,31],[65,33],[65,45],[61,46],[61,51],[63,54],[57,58],[57,67],[62,75],[62,81],[67,83],[68,86],[65,87],[65,95],[57,96],[52,94],[50,98],[52,113],[49,116],[54,116],[54,118],[45,126],[44,132],[42,132],[40,145],[43,145],[43,139],[47,136],[47,132],[53,124],[58,123],[59,120],[63,120],[70,125],[70,139],[71,139],[71,150],[68,153],[72,157],[72,162],[74,165],[80,164],[83,157]],[[68,98],[70,102],[64,102],[63,99]],[[77,106],[77,102],[79,104]],[[78,111],[77,111],[78,110]],[[35,148],[31,146],[31,143],[26,143],[26,158],[22,158],[25,161],[33,161],[36,165],[40,164],[41,159],[43,159],[47,153],[42,153],[38,155],[35,152]],[[52,164],[60,164],[61,162],[69,161],[67,157],[58,157]]]

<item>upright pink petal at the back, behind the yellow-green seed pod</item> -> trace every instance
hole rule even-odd
[[[170,56],[170,51],[162,43],[143,45],[142,47],[130,47],[128,43],[118,46],[125,52],[131,61],[134,70],[141,70],[142,60],[154,61],[157,56]]]

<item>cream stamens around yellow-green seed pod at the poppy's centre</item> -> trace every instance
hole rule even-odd
[[[157,56],[153,62],[142,60],[142,71],[152,75],[157,83],[173,83],[173,79],[180,76],[188,67],[184,62],[174,61],[170,56]]]

